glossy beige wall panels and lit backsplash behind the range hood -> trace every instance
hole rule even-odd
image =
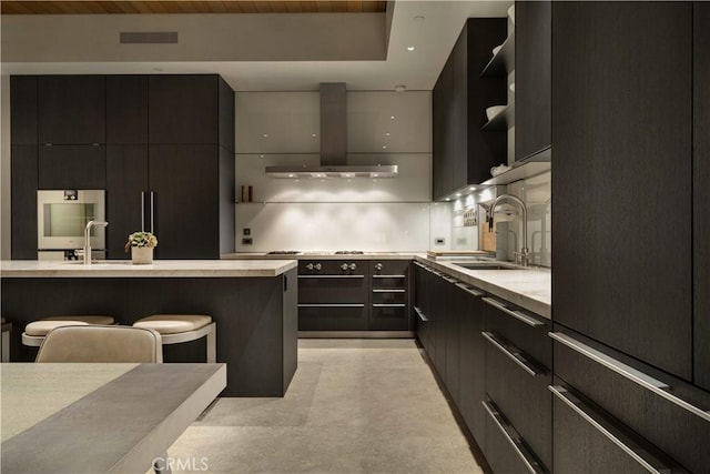
[[[428,91],[347,93],[347,163],[397,164],[397,178],[285,180],[265,167],[320,161],[318,93],[237,92],[236,186],[255,202],[236,205],[236,250],[433,248],[430,103]]]

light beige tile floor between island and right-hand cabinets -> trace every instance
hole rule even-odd
[[[301,340],[286,396],[217,400],[169,456],[175,473],[483,473],[412,340]]]

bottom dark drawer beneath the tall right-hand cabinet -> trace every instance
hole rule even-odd
[[[594,403],[564,385],[555,394],[555,471],[576,474],[671,473],[672,462]]]

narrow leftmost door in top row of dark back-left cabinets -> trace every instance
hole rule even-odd
[[[10,77],[11,142],[37,144],[37,75]]]

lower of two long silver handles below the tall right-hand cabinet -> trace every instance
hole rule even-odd
[[[548,389],[575,413],[592,425],[597,431],[599,431],[599,433],[609,438],[609,441],[619,446],[626,454],[631,456],[647,471],[656,474],[670,474],[671,470],[665,463],[656,458],[647,450],[639,446],[638,443],[615,427],[589,406],[586,406],[579,401],[579,399],[569,393],[567,389],[559,385],[548,385]]]

